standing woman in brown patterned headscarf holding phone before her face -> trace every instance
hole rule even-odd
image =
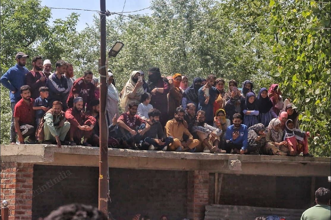
[[[241,107],[240,107],[240,98],[241,98],[241,92],[237,88],[234,91],[234,87],[237,87],[238,84],[235,80],[229,81],[229,91],[224,94],[224,110],[226,112],[227,117],[230,119],[231,125],[233,120],[233,115],[235,113],[241,113]]]

